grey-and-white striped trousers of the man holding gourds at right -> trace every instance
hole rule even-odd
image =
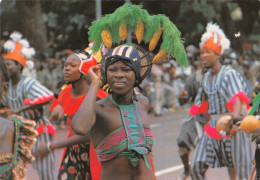
[[[217,119],[211,120],[210,126],[216,127]],[[209,167],[234,168],[238,180],[247,180],[252,171],[249,135],[240,131],[230,138],[217,140],[204,133],[193,152],[190,166],[193,180],[205,179]]]

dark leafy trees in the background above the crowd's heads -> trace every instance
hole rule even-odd
[[[241,0],[131,0],[150,14],[165,14],[182,32],[185,45],[198,46],[201,34],[210,21],[218,23],[241,51],[241,44],[260,34],[259,1]],[[103,0],[102,14],[112,13],[125,0]],[[231,14],[240,9],[242,17]],[[53,57],[63,49],[82,49],[88,44],[88,28],[95,20],[95,0],[3,0],[0,11],[1,39],[5,32],[22,32],[37,50],[38,57]],[[241,37],[234,34],[240,32]]]

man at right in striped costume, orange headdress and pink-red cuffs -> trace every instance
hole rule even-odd
[[[249,108],[246,84],[242,76],[228,66],[220,63],[221,54],[230,46],[230,41],[217,24],[209,23],[201,37],[200,57],[202,65],[208,68],[204,75],[195,103],[190,114],[195,116],[202,110],[211,115],[205,125],[204,134],[194,150],[191,159],[192,179],[205,179],[209,167],[228,167],[231,179],[248,179],[251,171],[250,137],[233,126],[225,137],[216,131],[217,120],[225,114],[240,117],[242,103]],[[203,92],[207,102],[201,100]]]

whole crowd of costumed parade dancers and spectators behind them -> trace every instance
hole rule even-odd
[[[126,11],[129,7],[135,13]],[[1,146],[0,178],[25,178],[25,170],[19,168],[32,161],[40,180],[156,179],[148,114],[163,116],[168,111],[189,108],[177,137],[184,165],[177,179],[205,179],[209,167],[227,167],[230,179],[248,179],[253,165],[251,135],[235,124],[222,135],[216,125],[224,115],[233,119],[246,116],[250,106],[257,107],[251,114],[259,114],[259,52],[236,53],[223,30],[210,22],[198,47],[184,49],[181,44],[179,51],[174,51],[181,60],[173,59],[172,52],[163,46],[166,55],[160,55],[161,51],[149,55],[154,50],[150,47],[152,36],[146,39],[149,50],[139,47],[142,37],[137,32],[138,43],[126,44],[126,36],[120,31],[121,43],[113,37],[114,27],[107,24],[108,17],[111,21],[116,17],[113,22],[120,27],[118,18],[135,19],[140,13],[135,23],[141,18],[147,27],[151,25],[145,21],[149,15],[139,6],[125,4],[120,8],[92,25],[90,39],[96,43],[82,51],[64,51],[64,56],[46,62],[32,61],[35,50],[18,32],[5,42],[6,53],[0,61],[0,120],[5,124],[3,131],[2,125],[0,128],[4,132],[0,144],[9,143]],[[163,15],[156,20],[162,25],[171,23]],[[111,28],[111,34],[106,28]],[[155,34],[156,28],[149,30]],[[160,31],[169,39],[167,33],[178,34],[170,26],[165,28]],[[105,39],[108,34],[110,39]],[[186,61],[189,66],[183,68]],[[249,105],[253,98],[254,105]],[[60,119],[69,134],[66,139],[53,141],[57,125],[52,124]],[[258,179],[259,131],[253,133]],[[60,148],[64,153],[58,177],[54,177],[54,151]]]

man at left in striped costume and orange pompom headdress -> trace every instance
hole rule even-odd
[[[34,154],[40,144],[50,142],[55,134],[55,129],[45,115],[43,106],[45,102],[52,99],[53,93],[39,81],[22,75],[27,58],[34,55],[35,51],[30,48],[27,40],[22,39],[22,34],[14,32],[10,37],[11,39],[4,44],[7,53],[3,55],[10,75],[9,91],[3,98],[2,104],[9,108],[9,112],[36,122],[38,137],[32,149]],[[33,166],[37,169],[40,180],[54,179],[53,153],[45,158],[37,157]]]

